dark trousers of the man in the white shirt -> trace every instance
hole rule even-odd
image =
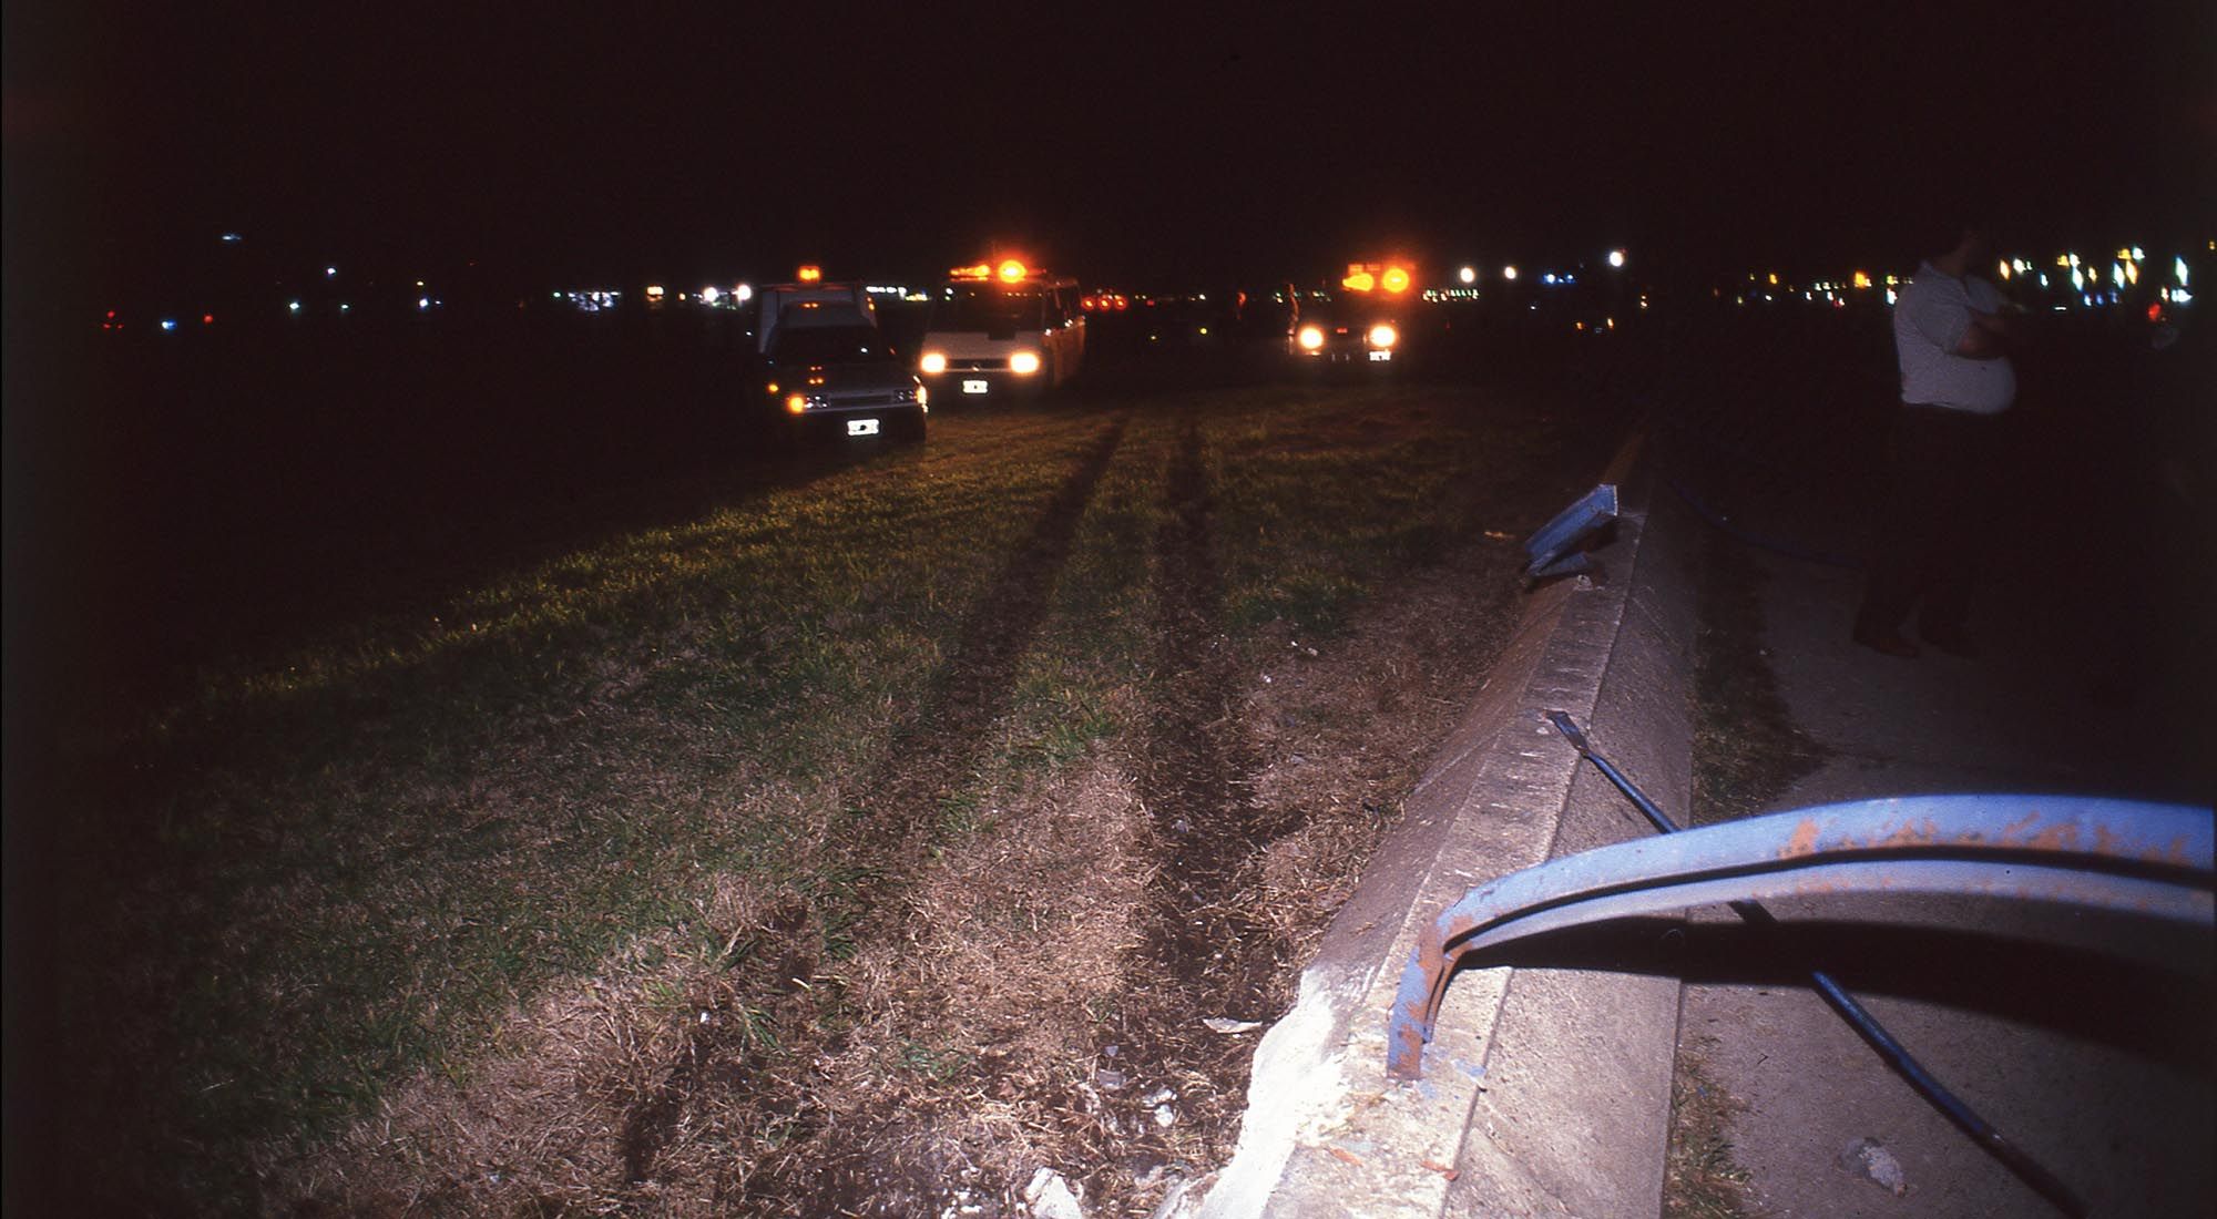
[[[1962,638],[2000,488],[1995,468],[2006,461],[2000,441],[2000,414],[1902,403],[1858,634],[1896,634],[1915,607],[1918,634]]]

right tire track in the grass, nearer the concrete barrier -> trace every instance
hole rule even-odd
[[[1290,1000],[1290,944],[1248,906],[1261,849],[1290,829],[1246,787],[1237,656],[1224,634],[1213,496],[1195,419],[1166,477],[1155,539],[1155,676],[1140,796],[1162,842],[1135,986],[1117,1004],[1117,1042],[1102,1046],[1128,1084],[1108,1095],[1126,1166],[1222,1159],[1237,1137],[1253,1039],[1213,1033],[1208,1017],[1261,1020]],[[1162,1099],[1164,1088],[1175,1099]],[[1168,1110],[1164,1110],[1168,1106]],[[1168,1117],[1168,1126],[1164,1119]]]

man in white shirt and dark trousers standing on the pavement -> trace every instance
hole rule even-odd
[[[2017,401],[2015,339],[2002,293],[1971,273],[1993,246],[1953,228],[1947,253],[1918,266],[1893,304],[1902,412],[1893,434],[1893,488],[1856,612],[1856,643],[1913,658],[1902,636],[1911,610],[1918,638],[1975,656],[1966,616],[1980,530],[1991,519],[2000,417]]]

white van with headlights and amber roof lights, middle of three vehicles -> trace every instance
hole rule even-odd
[[[1051,390],[1084,355],[1077,281],[1011,257],[947,275],[916,368],[942,401],[993,399]]]

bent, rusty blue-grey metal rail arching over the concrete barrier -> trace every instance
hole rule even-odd
[[[1401,971],[1386,1073],[1423,1075],[1439,1004],[1470,953],[1707,902],[1953,893],[2217,926],[2213,813],[2088,796],[1907,796],[1816,805],[1547,860],[1465,893]]]

